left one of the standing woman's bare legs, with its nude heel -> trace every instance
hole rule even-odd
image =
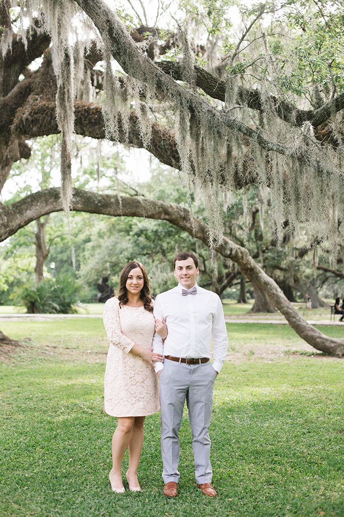
[[[135,419],[136,417],[119,417],[117,428],[112,436],[112,469],[110,471],[110,481],[112,488],[115,489],[123,488],[121,472],[122,460],[130,442]]]

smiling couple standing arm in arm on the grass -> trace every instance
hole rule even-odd
[[[178,494],[178,431],[186,400],[196,482],[205,495],[214,497],[208,428],[214,381],[228,346],[223,309],[218,295],[196,284],[199,269],[193,253],[179,253],[173,268],[178,285],[156,297],[154,317],[148,276],[139,262],[129,262],[124,267],[118,296],[105,304],[104,326],[111,345],[105,372],[104,412],[118,417],[109,478],[113,492],[125,491],[121,465],[129,447],[126,478],[130,491],[140,491],[137,469],[144,418],[159,410],[159,378],[163,493],[166,497]]]

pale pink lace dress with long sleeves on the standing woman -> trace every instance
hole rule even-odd
[[[153,313],[143,307],[119,306],[117,298],[105,303],[104,326],[110,340],[104,381],[104,412],[114,417],[145,416],[159,406],[158,379],[154,368],[130,353],[137,343],[152,346]]]

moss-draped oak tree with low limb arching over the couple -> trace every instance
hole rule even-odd
[[[0,187],[29,158],[29,139],[56,133],[62,186],[2,204],[0,238],[61,209],[167,220],[237,262],[313,346],[343,355],[344,342],[306,324],[222,224],[223,202],[255,185],[277,240],[286,221],[293,231],[303,223],[309,243],[316,236],[334,254],[344,214],[342,3],[237,5],[241,25],[227,0],[183,2],[173,18],[159,3],[153,26],[148,4],[130,5],[132,16],[103,0],[1,0]],[[146,148],[181,170],[207,224],[164,201],[73,190],[75,133]]]

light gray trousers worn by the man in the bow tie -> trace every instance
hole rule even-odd
[[[211,481],[209,423],[216,371],[210,361],[183,364],[164,359],[160,373],[162,478],[165,483],[180,477],[179,436],[184,403],[189,410],[195,478],[198,483]]]

